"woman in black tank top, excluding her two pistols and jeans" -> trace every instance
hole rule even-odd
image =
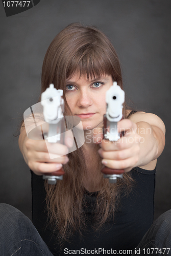
[[[65,114],[81,118],[85,143],[67,155],[73,143],[67,137],[65,145],[53,145],[56,158],[51,160],[45,141],[29,139],[24,126],[19,136],[21,153],[32,170],[33,224],[54,255],[85,249],[89,254],[95,249],[101,254],[112,249],[133,252],[152,225],[155,168],[164,148],[165,126],[156,115],[131,112],[125,104],[125,119],[118,122],[124,137],[117,143],[104,141],[105,94],[113,81],[123,89],[118,57],[101,31],[71,24],[54,38],[43,61],[41,93],[50,83],[63,90]],[[63,181],[44,184],[41,175],[62,165]],[[103,178],[103,165],[124,168],[124,178],[110,184]],[[30,240],[36,244],[32,255],[52,255],[40,238],[35,242],[33,237],[39,235],[33,226],[30,229],[31,237],[22,236],[16,253]],[[37,248],[41,249],[34,254]]]

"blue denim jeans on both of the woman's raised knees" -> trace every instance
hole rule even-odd
[[[153,223],[132,255],[168,256],[171,255],[169,248],[171,210],[166,211]],[[53,256],[29,218],[8,204],[0,204],[0,255]]]

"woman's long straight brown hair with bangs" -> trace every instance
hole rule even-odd
[[[76,72],[86,75],[87,79],[111,75],[123,89],[123,80],[117,54],[107,36],[95,27],[74,23],[63,29],[51,42],[45,54],[42,67],[42,89],[44,92],[50,83],[63,90],[65,114],[71,111],[65,99],[66,78]],[[124,115],[126,107],[124,106]],[[97,193],[94,206],[95,218],[93,227],[99,229],[113,216],[119,202],[120,189],[127,194],[132,184],[129,174],[124,174],[117,184],[110,184],[101,174],[102,158],[97,154],[99,145],[94,150],[94,179],[98,172],[101,177],[101,190]],[[74,231],[86,229],[86,218],[83,208],[86,207],[83,176],[86,174],[85,153],[80,147],[68,154],[69,162],[65,164],[63,181],[56,185],[45,183],[46,201],[50,220],[59,232],[59,238],[66,240]]]

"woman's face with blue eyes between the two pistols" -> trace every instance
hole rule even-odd
[[[77,73],[66,79],[66,100],[72,115],[79,116],[84,130],[92,130],[101,125],[106,113],[106,91],[112,86],[112,76],[102,75],[87,80],[87,76]]]

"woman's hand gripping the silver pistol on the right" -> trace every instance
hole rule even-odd
[[[94,141],[101,142],[99,154],[105,166],[112,169],[125,169],[125,172],[129,172],[140,160],[141,136],[137,134],[136,123],[129,119],[119,121],[117,127],[119,133],[124,132],[124,136],[117,141],[103,139],[103,134],[99,134],[98,129],[94,134]]]

